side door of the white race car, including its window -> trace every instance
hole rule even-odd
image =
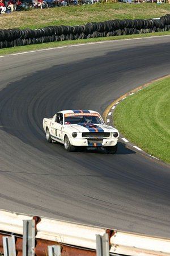
[[[53,120],[51,123],[51,129],[52,129],[52,136],[58,139],[59,141],[62,141],[62,138],[61,138],[62,124],[63,124],[63,115],[62,113],[57,113],[56,119]]]

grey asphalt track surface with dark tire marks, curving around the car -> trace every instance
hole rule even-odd
[[[170,37],[0,57],[1,209],[170,237],[170,168],[119,143],[116,155],[48,143],[42,118],[103,113],[169,74]]]

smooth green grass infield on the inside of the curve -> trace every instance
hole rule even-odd
[[[148,154],[170,163],[170,78],[121,101],[114,126]]]

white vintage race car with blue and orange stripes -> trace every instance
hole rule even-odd
[[[63,110],[53,118],[43,119],[48,142],[64,144],[66,151],[75,147],[105,148],[108,154],[117,151],[118,130],[105,125],[101,115],[92,110]]]

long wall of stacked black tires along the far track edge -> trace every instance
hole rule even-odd
[[[98,23],[88,22],[81,26],[49,26],[36,30],[14,28],[0,30],[0,48],[169,30],[170,14],[159,19],[115,19]]]

